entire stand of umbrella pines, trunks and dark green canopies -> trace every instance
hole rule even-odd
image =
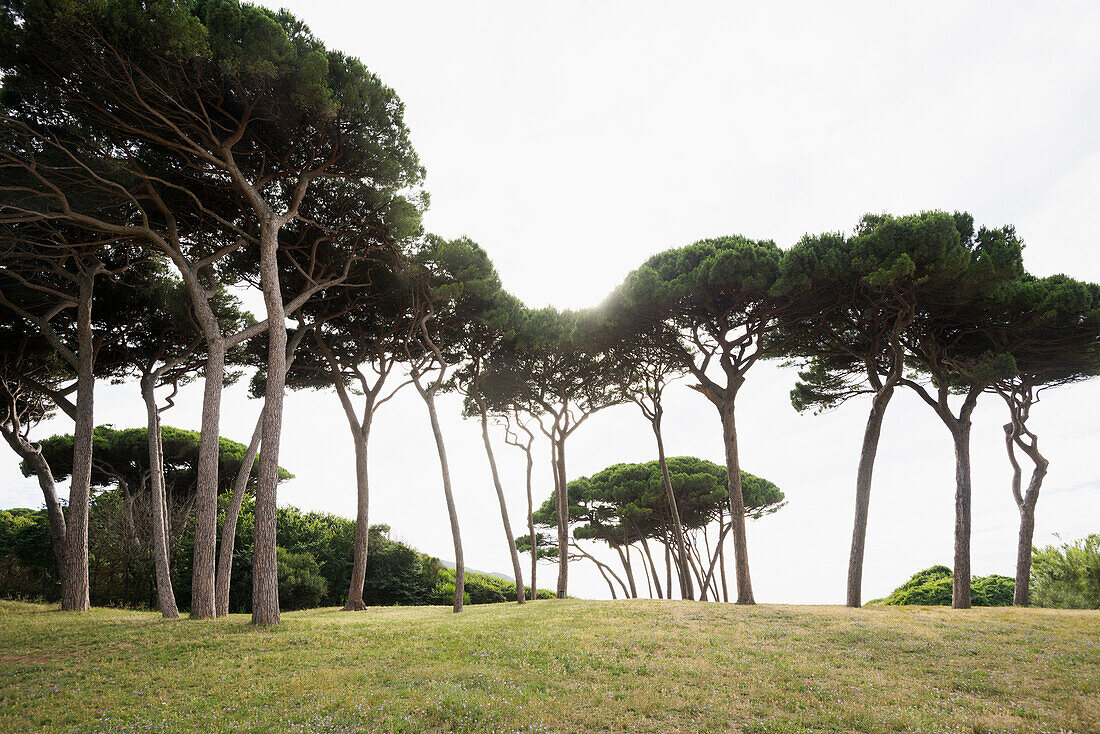
[[[193,616],[230,609],[235,534],[251,494],[252,617],[278,622],[276,496],[288,388],[332,390],[346,415],[358,513],[344,609],[369,601],[372,423],[407,385],[435,436],[457,612],[466,579],[437,409],[444,391],[462,394],[465,414],[480,421],[518,602],[525,584],[494,423],[528,457],[531,595],[540,555],[531,452],[541,435],[554,492],[539,522],[557,529],[558,596],[568,593],[573,525],[575,537],[620,549],[627,566],[636,541],[645,551],[660,536],[681,590],[697,584],[700,595],[716,596],[715,556],[704,558],[692,536],[700,527],[693,513],[702,511],[686,500],[681,508],[664,456],[662,399],[681,376],[718,414],[717,544],[728,536],[734,549],[736,601],[754,603],[746,521],[781,495],[758,496],[767,492],[740,469],[736,403],[750,369],[767,359],[801,364],[792,393],[799,409],[871,397],[856,482],[853,605],[860,603],[882,416],[903,386],[935,410],[955,446],[953,604],[969,606],[970,421],[982,395],[1000,395],[1021,511],[1015,601],[1027,603],[1047,471],[1028,416],[1041,390],[1097,372],[1100,288],[1026,274],[1011,227],[925,212],[868,216],[851,235],[807,235],[785,251],[743,237],[704,240],[651,258],[598,308],[529,309],[503,288],[476,243],[422,231],[424,168],[399,98],[289,13],[234,0],[26,1],[3,6],[0,41],[0,430],[42,487],[63,609],[89,606],[91,487],[107,474],[97,458],[95,385],[127,379],[136,380],[147,408],[147,461],[141,478],[125,476],[122,496],[147,487],[144,533],[165,616],[178,614],[169,554],[178,480],[161,415],[191,380],[204,383]],[[260,317],[233,297],[241,287],[262,293]],[[244,370],[263,407],[234,471],[220,459],[220,405]],[[647,495],[649,514],[608,503],[603,480],[573,489],[568,480],[568,439],[595,412],[625,403],[653,430],[666,504],[659,510]],[[58,409],[75,424],[64,468],[31,437]],[[1021,453],[1033,467],[1026,487]],[[70,476],[65,507],[55,489],[61,475]],[[121,476],[113,478],[120,487]],[[634,587],[629,569],[626,576]]]

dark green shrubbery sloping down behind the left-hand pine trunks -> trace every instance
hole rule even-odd
[[[226,497],[222,497],[222,502]],[[156,603],[153,559],[147,541],[128,528],[118,492],[98,492],[89,514],[89,580],[97,606],[152,609]],[[220,527],[220,518],[219,518]],[[230,611],[252,609],[252,502],[241,510],[233,552]],[[279,605],[285,610],[342,606],[351,582],[355,524],[328,513],[279,507],[277,518]],[[169,548],[177,604],[187,609],[191,593],[194,529],[188,524]],[[61,588],[44,510],[0,511],[0,598],[57,601]],[[367,604],[451,604],[454,569],[438,558],[389,537],[389,526],[370,529]],[[490,604],[516,598],[506,579],[466,571],[466,602]],[[540,599],[552,599],[549,591]]]

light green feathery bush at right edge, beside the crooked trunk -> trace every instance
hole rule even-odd
[[[1036,606],[1100,609],[1100,535],[1032,554],[1031,601]]]

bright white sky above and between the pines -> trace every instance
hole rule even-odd
[[[850,232],[865,212],[970,211],[1012,223],[1037,275],[1100,281],[1100,3],[1094,2],[287,2],[330,47],[360,57],[405,101],[428,176],[430,231],[469,235],[530,306],[597,304],[649,255],[706,237],[794,244]],[[868,404],[800,415],[792,368],[754,366],[738,398],[746,471],[789,505],[749,524],[759,602],[843,603]],[[168,425],[199,426],[185,388]],[[440,413],[469,567],[510,574],[479,426]],[[1040,545],[1100,532],[1100,380],[1044,393],[1033,410],[1050,471]],[[97,423],[143,425],[136,385],[101,385]],[[227,392],[223,435],[248,442],[258,403]],[[996,396],[974,428],[976,574],[1012,576],[1019,516]],[[54,418],[38,436],[70,432]],[[722,462],[717,414],[685,384],[667,398],[670,456]],[[513,525],[524,459],[497,453]],[[405,392],[371,439],[371,521],[453,558],[424,404]],[[541,447],[536,494],[549,496]],[[656,458],[637,408],[593,416],[570,440],[571,479]],[[350,432],[334,394],[287,397],[280,504],[355,514]],[[64,492],[63,492],[64,494]],[[0,507],[38,506],[11,452]],[[876,464],[865,598],[950,565],[954,458],[932,410],[900,392]],[[605,554],[610,560],[610,555]],[[525,569],[528,562],[524,563]],[[525,571],[526,572],[526,571]],[[552,588],[544,563],[539,585]],[[591,563],[570,592],[606,598]],[[730,579],[733,581],[733,579]]]

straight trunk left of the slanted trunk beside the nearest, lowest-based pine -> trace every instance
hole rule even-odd
[[[215,576],[218,547],[218,460],[221,432],[221,392],[226,372],[226,341],[207,336],[202,390],[202,421],[195,485],[195,556],[191,569],[194,620],[215,616]]]

